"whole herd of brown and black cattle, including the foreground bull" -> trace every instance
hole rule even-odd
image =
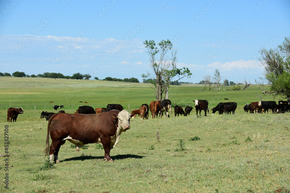
[[[198,111],[201,115],[201,111],[209,113],[207,100],[194,100],[196,115]],[[275,101],[260,101],[252,102],[244,106],[245,113],[265,112],[269,109],[272,113],[285,113],[290,111],[290,99],[287,101],[279,101],[276,104]],[[63,108],[63,106],[54,106],[55,110]],[[215,106],[212,113],[216,111],[219,114],[235,114],[237,103],[235,102],[221,102]],[[190,114],[193,107],[186,106],[185,111],[181,106],[174,107],[174,115],[187,116]],[[151,117],[162,117],[165,112],[165,117],[168,117],[168,111],[171,111],[171,101],[163,100],[152,101],[149,105],[142,104],[140,109],[134,110],[128,113],[124,110],[120,104],[108,104],[106,108],[93,109],[91,106],[80,106],[75,114],[65,113],[65,111],[59,111],[58,113],[42,112],[40,118],[46,118],[48,121],[47,137],[46,137],[46,155],[49,155],[49,159],[59,163],[58,152],[61,145],[64,145],[66,140],[75,144],[77,152],[79,148],[91,143],[102,144],[104,147],[105,155],[104,160],[113,161],[110,157],[110,150],[113,149],[119,142],[119,138],[122,132],[125,132],[130,128],[130,118],[136,117],[136,114],[140,116],[140,119],[148,119],[149,110],[151,111]],[[7,110],[7,122],[16,122],[17,116],[23,113],[23,109],[9,108]],[[52,140],[49,145],[49,136]]]

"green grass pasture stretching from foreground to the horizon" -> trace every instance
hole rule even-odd
[[[0,77],[0,81],[1,154],[5,155],[4,129],[8,125],[11,155],[9,189],[1,183],[0,192],[290,190],[290,114],[245,114],[243,106],[247,101],[260,100],[256,98],[259,89],[224,91],[221,87],[221,91],[200,91],[202,85],[172,86],[172,104],[183,106],[193,104],[195,99],[206,99],[211,109],[229,98],[230,102],[239,102],[236,113],[218,115],[210,111],[204,117],[196,116],[193,109],[187,117],[140,120],[137,116],[110,151],[114,162],[102,160],[104,150],[98,144],[88,144],[77,153],[66,141],[59,151],[61,163],[46,170],[48,157],[43,151],[48,122],[39,116],[42,111],[58,112],[50,101],[64,104],[66,113],[85,105],[79,101],[89,102],[94,108],[118,103],[131,112],[134,108],[128,109],[128,104],[137,108],[155,100],[154,90],[148,84],[96,80]],[[24,110],[17,122],[7,123],[9,104]],[[6,173],[4,159],[0,161],[2,182]]]

